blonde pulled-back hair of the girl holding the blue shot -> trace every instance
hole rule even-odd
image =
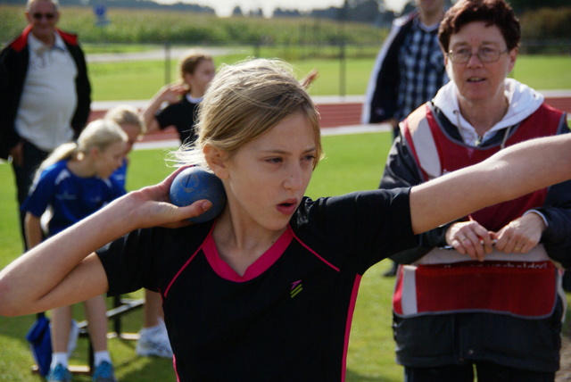
[[[310,120],[317,149],[315,165],[323,156],[319,112],[285,62],[256,59],[224,66],[198,108],[198,139],[175,153],[181,165],[208,167],[204,145],[232,155],[295,112]]]

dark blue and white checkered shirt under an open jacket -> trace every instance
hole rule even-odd
[[[426,29],[418,16],[415,18],[399,51],[399,68],[401,81],[394,118],[403,120],[448,82],[438,45],[438,25]]]

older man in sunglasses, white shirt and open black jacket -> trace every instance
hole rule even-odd
[[[91,104],[78,38],[56,29],[57,0],[29,0],[25,15],[29,25],[0,53],[0,158],[12,159],[20,205],[39,163],[79,135]]]

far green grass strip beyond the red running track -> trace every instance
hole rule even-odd
[[[279,57],[279,52],[262,52],[265,57]],[[217,56],[217,65],[252,57],[251,48],[237,48],[236,54]],[[170,80],[178,79],[177,60],[170,62]],[[291,62],[298,78],[311,69],[319,78],[310,87],[310,95],[364,95],[374,59],[352,58],[344,65],[336,60]],[[538,90],[571,89],[571,56],[520,55],[511,76]],[[89,76],[95,101],[147,100],[165,84],[164,61],[90,63]],[[343,78],[343,83],[342,83]],[[145,80],[141,80],[145,79]],[[344,84],[344,87],[342,86]],[[343,87],[343,89],[342,89]]]

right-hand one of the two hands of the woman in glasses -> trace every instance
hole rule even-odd
[[[545,223],[540,215],[534,212],[512,220],[495,234],[498,241],[496,248],[503,253],[528,253],[539,244]]]

